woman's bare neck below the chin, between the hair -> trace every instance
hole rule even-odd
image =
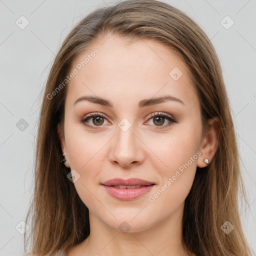
[[[181,227],[182,213],[184,204],[182,203],[173,214],[167,216],[160,223],[152,223],[151,226],[146,226],[145,229],[137,231],[126,222],[123,227],[136,230],[134,232],[122,232],[116,230],[106,223],[102,222],[97,216],[89,213],[90,234],[78,246],[73,253],[68,256],[82,255],[161,255],[161,256],[181,256],[185,255],[181,243]],[[123,230],[123,229],[121,229]]]

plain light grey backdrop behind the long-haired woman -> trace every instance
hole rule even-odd
[[[249,201],[249,207],[240,205],[240,215],[255,251],[256,0],[165,2],[204,29],[220,58]],[[33,189],[40,92],[54,55],[79,19],[110,3],[113,1],[0,0],[0,255],[23,252],[20,232]]]

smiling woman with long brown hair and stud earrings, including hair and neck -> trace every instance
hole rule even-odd
[[[221,67],[180,10],[128,0],[82,19],[40,116],[32,254],[250,255]]]

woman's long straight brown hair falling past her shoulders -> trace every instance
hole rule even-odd
[[[155,39],[174,50],[185,62],[201,107],[201,120],[217,116],[220,135],[211,163],[196,169],[182,220],[182,243],[196,255],[250,255],[239,212],[238,192],[244,196],[239,156],[221,66],[203,30],[182,11],[156,0],[126,0],[96,9],[84,17],[61,45],[45,85],[37,135],[34,193],[30,214],[30,252],[35,255],[65,253],[89,235],[88,208],[67,179],[70,168],[60,163],[57,125],[63,128],[63,84],[74,59],[96,40],[111,34],[132,40]],[[59,84],[61,84],[61,89]],[[51,99],[54,93],[54,98]],[[204,132],[204,129],[203,129]],[[246,201],[247,202],[247,201]],[[234,229],[226,234],[221,226]],[[27,232],[28,233],[28,232]],[[24,248],[27,246],[26,233]]]

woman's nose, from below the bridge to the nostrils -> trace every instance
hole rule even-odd
[[[109,161],[123,168],[141,164],[144,160],[143,143],[134,133],[133,126],[126,131],[119,127],[116,130],[117,134],[110,143]]]

